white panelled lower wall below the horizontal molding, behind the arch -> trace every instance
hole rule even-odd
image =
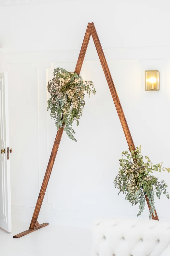
[[[106,58],[135,145],[141,144],[144,156],[168,167],[170,60],[164,58],[166,50],[157,47],[160,55],[155,59],[149,47],[106,49]],[[47,112],[47,82],[57,66],[74,71],[78,51],[0,53],[0,57],[0,69],[8,67],[9,73],[12,217],[29,222],[57,132]],[[160,71],[159,92],[145,92],[144,71],[149,69]],[[80,125],[73,126],[78,143],[63,134],[39,215],[42,223],[90,227],[98,217],[128,218],[138,212],[138,206],[118,196],[113,185],[118,159],[128,146],[95,50],[87,50],[81,76],[94,82],[96,95],[86,96]],[[170,191],[169,174],[156,175],[167,181]],[[168,220],[170,201],[162,196],[155,206],[159,218]],[[148,216],[146,207],[140,217]]]

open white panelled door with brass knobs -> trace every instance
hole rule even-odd
[[[3,152],[2,152],[3,150]],[[11,232],[7,73],[0,73],[0,228]]]

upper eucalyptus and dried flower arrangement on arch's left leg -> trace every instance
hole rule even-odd
[[[84,92],[95,94],[92,81],[83,81],[77,73],[68,72],[63,68],[55,68],[54,77],[48,82],[48,92],[51,97],[48,100],[51,118],[55,120],[57,130],[64,127],[64,131],[70,139],[77,142],[74,137],[74,129],[71,127],[73,121],[82,116],[85,105]]]

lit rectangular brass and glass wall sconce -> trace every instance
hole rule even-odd
[[[145,71],[145,91],[159,91],[159,71],[147,70]]]

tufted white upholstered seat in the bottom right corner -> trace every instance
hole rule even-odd
[[[170,256],[170,222],[98,219],[91,234],[92,256]]]

